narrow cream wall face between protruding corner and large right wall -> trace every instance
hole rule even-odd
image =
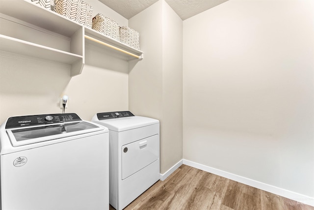
[[[163,144],[160,154],[162,172],[166,172],[183,157],[183,21],[168,3],[162,2]]]

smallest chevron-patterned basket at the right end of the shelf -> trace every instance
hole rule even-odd
[[[120,27],[120,41],[139,50],[139,32],[127,26]]]

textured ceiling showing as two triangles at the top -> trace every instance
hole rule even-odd
[[[118,12],[123,17],[130,19],[158,0],[99,0]],[[204,12],[227,0],[165,0],[182,20]]]

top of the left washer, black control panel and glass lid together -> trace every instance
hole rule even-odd
[[[105,128],[81,120],[75,113],[16,116],[1,125],[1,132],[7,134],[13,147],[101,130]]]

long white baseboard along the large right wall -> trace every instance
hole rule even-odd
[[[183,159],[183,164],[314,207],[314,198]],[[169,175],[168,175],[169,176]]]

